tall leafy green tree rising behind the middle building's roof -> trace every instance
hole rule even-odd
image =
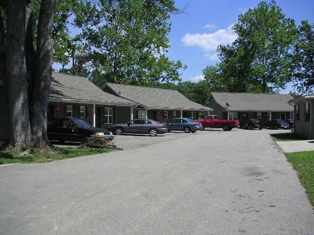
[[[168,19],[178,11],[173,0],[85,2],[75,24],[98,73],[92,81],[149,85],[180,80],[179,69],[185,66],[165,56],[170,47]]]

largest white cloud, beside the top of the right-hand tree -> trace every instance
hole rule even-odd
[[[237,35],[231,29],[230,25],[226,29],[218,29],[213,33],[187,33],[181,39],[185,46],[201,47],[206,52],[216,50],[218,45],[231,44],[237,38]]]

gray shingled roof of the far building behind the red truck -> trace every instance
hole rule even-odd
[[[231,111],[293,111],[288,104],[290,94],[252,94],[252,93],[211,93],[216,102],[225,108],[226,102]]]

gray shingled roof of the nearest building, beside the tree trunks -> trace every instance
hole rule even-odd
[[[50,100],[134,105],[130,100],[105,93],[85,77],[52,72]]]

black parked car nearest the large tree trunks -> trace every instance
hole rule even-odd
[[[112,132],[95,128],[81,118],[51,118],[47,122],[48,140],[84,141],[88,137],[105,137],[113,140]]]

